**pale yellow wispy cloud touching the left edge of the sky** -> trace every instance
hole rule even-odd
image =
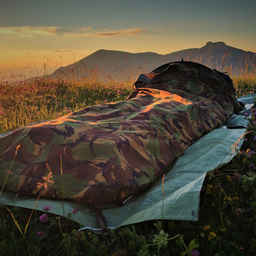
[[[8,34],[8,35],[56,35],[58,33],[57,27],[6,27],[0,28],[0,34]]]

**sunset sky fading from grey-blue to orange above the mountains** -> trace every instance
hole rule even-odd
[[[207,42],[256,52],[255,0],[0,0],[0,81],[100,49],[167,54]]]

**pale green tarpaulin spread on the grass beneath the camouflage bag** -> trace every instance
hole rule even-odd
[[[255,93],[240,97],[239,101],[253,104]],[[248,105],[244,109],[249,109]],[[248,110],[249,111],[249,110]],[[243,111],[240,112],[243,114]],[[215,129],[192,144],[169,168],[164,178],[164,207],[162,178],[160,177],[140,196],[130,198],[123,206],[97,205],[102,209],[108,227],[116,228],[145,220],[169,219],[192,220],[198,219],[200,190],[208,171],[228,163],[236,152],[232,153],[231,146],[244,135],[245,129],[225,129],[229,125],[245,125],[244,116],[233,115],[220,128]],[[1,135],[0,135],[1,136]],[[237,148],[240,148],[240,140]],[[49,211],[65,216],[73,209],[78,209],[74,220],[84,227],[99,229],[94,212],[88,205],[74,201],[58,201],[48,198],[30,197],[22,194],[2,191],[0,203],[42,210],[44,205],[50,205]]]

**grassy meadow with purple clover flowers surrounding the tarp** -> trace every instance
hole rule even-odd
[[[256,90],[255,65],[250,70],[239,66],[230,75],[237,96]],[[130,92],[132,79],[51,80],[44,76],[15,86],[2,79],[0,133],[87,106],[125,100]],[[248,133],[241,149],[230,163],[206,174],[198,221],[146,221],[102,236],[78,231],[81,226],[72,220],[76,209],[60,217],[49,213],[47,205],[37,209],[43,212],[31,215],[32,210],[1,204],[0,255],[256,255],[255,117],[254,105],[252,115],[244,116]]]

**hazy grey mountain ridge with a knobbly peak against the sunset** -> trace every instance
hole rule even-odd
[[[53,72],[52,79],[66,76],[79,79],[83,76],[111,77],[118,79],[136,78],[141,73],[172,61],[196,61],[210,68],[231,72],[246,63],[255,64],[255,52],[246,52],[224,42],[207,42],[201,48],[191,48],[161,55],[155,52],[130,53],[112,50],[99,50],[69,66]],[[247,57],[246,57],[247,56]]]

